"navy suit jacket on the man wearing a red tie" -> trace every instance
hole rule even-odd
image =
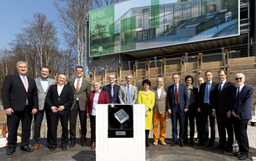
[[[168,87],[167,92],[167,108],[168,110],[173,110],[175,107],[175,86],[171,85]],[[186,88],[186,85],[179,83],[178,87],[178,103],[179,107],[184,112],[185,109],[189,109],[189,95]]]

